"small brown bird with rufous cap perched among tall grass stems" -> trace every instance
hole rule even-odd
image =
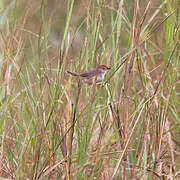
[[[81,74],[67,71],[67,73],[72,76],[79,77],[84,83],[87,84],[99,84],[104,79],[106,72],[111,69],[106,65],[99,65],[97,68],[91,69],[89,71],[83,72]]]

